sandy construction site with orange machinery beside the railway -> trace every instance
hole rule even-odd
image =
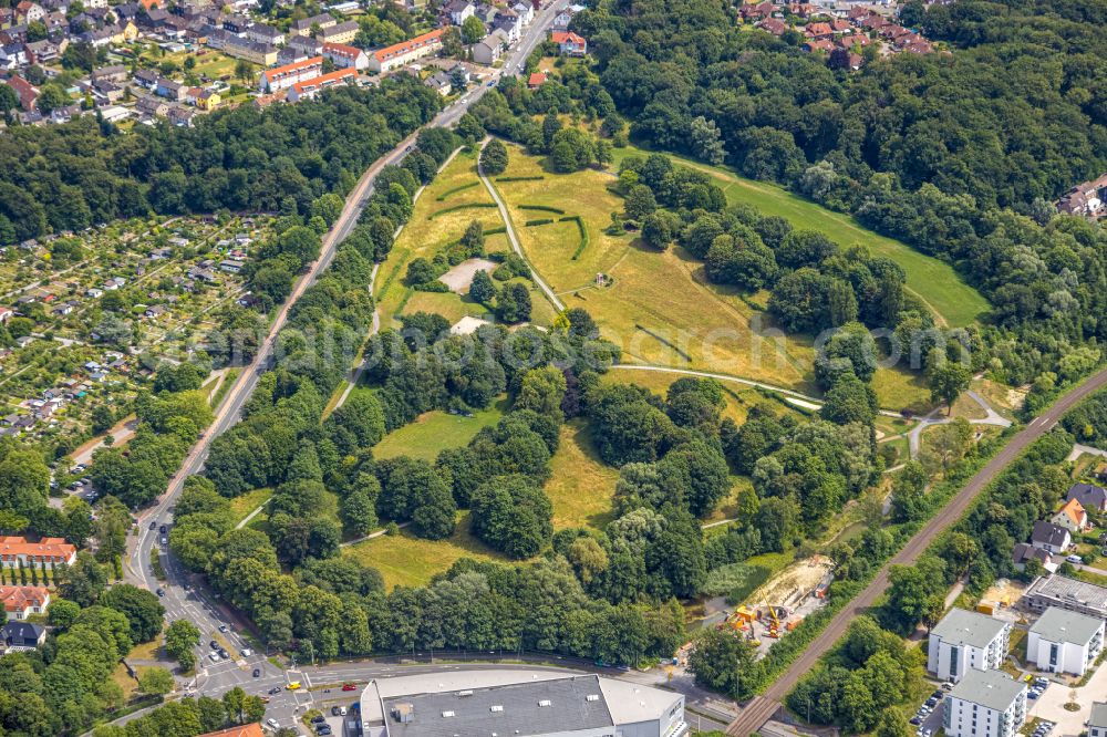
[[[757,647],[757,656],[764,657],[777,640],[826,604],[831,581],[832,561],[813,556],[780,571],[717,626],[741,632]]]

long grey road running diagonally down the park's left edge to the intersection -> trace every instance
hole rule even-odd
[[[535,17],[523,39],[506,56],[501,70],[495,72],[490,77],[493,84],[499,76],[514,74],[521,69],[527,56],[546,37],[554,17],[568,2],[569,0],[557,0]],[[482,86],[466,93],[442,111],[430,125],[454,125],[488,89],[489,82],[482,83]],[[244,369],[238,380],[227,392],[211,426],[188,453],[180,470],[170,479],[165,494],[158,498],[156,505],[138,516],[139,533],[136,539],[132,538],[128,541],[130,550],[125,559],[126,579],[151,591],[162,591],[162,602],[166,609],[167,621],[187,619],[199,629],[201,643],[197,648],[197,673],[189,683],[185,684],[188,693],[206,693],[217,696],[239,685],[248,693],[262,694],[269,688],[287,684],[298,677],[294,671],[286,672],[271,664],[266,658],[265,653],[254,652],[245,657],[241,655],[242,650],[248,647],[248,643],[239,635],[242,629],[241,623],[236,624],[232,612],[219,605],[215,595],[206,588],[206,583],[199,577],[192,575],[174,559],[167,547],[162,543],[167,533],[162,533],[161,528],[162,526],[172,526],[174,505],[184,486],[185,478],[200,473],[211,440],[238,422],[244,404],[249,399],[255,386],[257,386],[258,378],[270,363],[277,334],[288,321],[292,304],[314,283],[319,274],[334,258],[338,245],[358,224],[358,217],[361,215],[365,200],[372,195],[376,175],[384,166],[399,163],[414,145],[416,137],[417,134],[412,134],[404,138],[389,154],[374,163],[359,180],[354,190],[346,198],[345,206],[334,227],[323,238],[319,259],[300,277],[288,300],[277,312],[271,328],[259,347],[257,357]],[[154,529],[151,529],[152,525]],[[163,582],[156,580],[149,567],[151,554],[154,550],[159,551],[161,562],[166,571],[166,580]],[[227,631],[220,632],[220,627],[225,627]],[[208,643],[211,640],[223,641],[220,644],[229,646],[228,652],[230,652],[231,660],[214,663],[209,658],[211,650]],[[362,669],[359,671],[359,667]],[[350,669],[350,678],[361,679],[376,677],[374,674],[387,673],[386,666],[374,663],[344,664],[340,667],[340,669],[342,668]],[[255,669],[259,672],[256,678],[252,675]],[[291,724],[294,712],[307,708],[304,705],[310,700],[311,695],[306,691],[296,693],[282,691],[279,695],[273,696],[268,716],[272,716],[282,724]]]

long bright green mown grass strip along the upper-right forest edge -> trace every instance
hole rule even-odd
[[[628,146],[614,149],[617,164],[631,155],[649,152]],[[796,228],[819,230],[844,247],[860,243],[877,256],[896,261],[907,273],[907,287],[953,328],[974,322],[991,305],[950,264],[920,253],[898,240],[869,230],[855,218],[828,210],[810,200],[766,181],[746,179],[725,167],[713,167],[670,155],[685,166],[710,173],[723,188],[727,201],[753,205],[765,215],[785,218]]]

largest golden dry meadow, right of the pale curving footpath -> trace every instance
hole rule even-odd
[[[509,146],[509,152],[505,176],[541,173],[539,159],[518,146]],[[612,181],[609,175],[584,170],[544,176],[540,181],[498,185],[523,249],[567,307],[588,310],[602,334],[622,347],[623,362],[716,371],[814,391],[809,339],[762,341],[755,325],[769,326],[766,318],[736,291],[707,284],[703,266],[682,249],[659,252],[640,247],[631,236],[603,232],[611,212],[623,206],[607,188]],[[559,207],[581,216],[589,246],[572,260],[579,245],[576,228],[521,227],[526,219],[544,214],[523,210],[520,205]],[[597,273],[609,274],[613,283],[594,287]]]

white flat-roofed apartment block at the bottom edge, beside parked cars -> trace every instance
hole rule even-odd
[[[945,698],[948,737],[1015,737],[1026,722],[1026,685],[1001,671],[973,671]]]

